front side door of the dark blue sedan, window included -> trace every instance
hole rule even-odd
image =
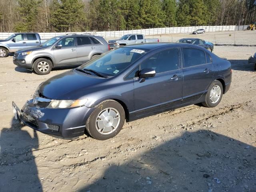
[[[156,75],[144,82],[134,79],[135,115],[169,108],[182,100],[183,75],[180,69],[180,52],[177,48],[164,50],[144,60],[140,70],[152,68]]]

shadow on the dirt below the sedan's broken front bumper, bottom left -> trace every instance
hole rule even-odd
[[[11,127],[3,128],[0,132],[0,191],[2,192],[42,191],[35,157],[32,154],[32,150],[38,148],[38,137],[36,131],[31,136],[26,130],[22,130],[23,126],[18,120],[12,119]]]

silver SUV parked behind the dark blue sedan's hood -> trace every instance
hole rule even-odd
[[[101,36],[68,34],[51,38],[40,46],[16,51],[13,63],[45,75],[52,68],[79,66],[109,50]]]

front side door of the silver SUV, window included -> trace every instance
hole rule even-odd
[[[74,37],[63,38],[56,46],[61,46],[60,48],[53,48],[56,66],[72,66],[78,64]]]

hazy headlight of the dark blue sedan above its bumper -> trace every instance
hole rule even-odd
[[[74,108],[80,107],[86,104],[88,99],[78,100],[52,100],[47,108]]]

